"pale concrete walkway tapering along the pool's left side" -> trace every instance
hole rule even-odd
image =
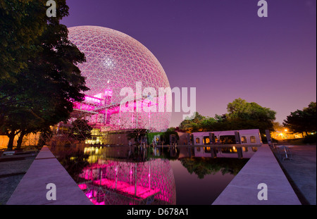
[[[46,185],[56,185],[56,201],[47,200]],[[7,205],[92,205],[61,163],[44,146],[16,187]]]

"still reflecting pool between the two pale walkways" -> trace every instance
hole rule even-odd
[[[96,205],[210,205],[256,147],[51,147]]]

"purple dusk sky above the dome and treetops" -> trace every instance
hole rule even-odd
[[[170,86],[197,87],[213,117],[241,97],[282,120],[316,101],[316,0],[67,0],[68,27],[108,27],[144,44]],[[178,126],[183,113],[173,113]]]

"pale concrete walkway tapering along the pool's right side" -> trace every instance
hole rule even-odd
[[[265,183],[268,200],[260,201],[258,185]],[[301,205],[268,145],[259,147],[213,205]]]

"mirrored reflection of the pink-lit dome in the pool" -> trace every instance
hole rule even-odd
[[[80,188],[94,204],[176,204],[175,179],[168,160],[103,161],[80,175]]]

